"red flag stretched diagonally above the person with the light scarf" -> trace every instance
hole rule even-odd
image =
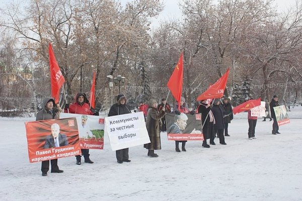
[[[197,100],[205,100],[210,98],[220,98],[223,96],[226,82],[228,81],[230,68],[226,70],[214,84],[210,85],[209,88],[197,97]]]

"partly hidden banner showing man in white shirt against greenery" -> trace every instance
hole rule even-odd
[[[60,114],[60,118],[69,117],[77,119],[81,149],[104,148],[104,117],[71,113]]]

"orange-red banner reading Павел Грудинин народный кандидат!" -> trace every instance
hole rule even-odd
[[[75,118],[25,122],[29,162],[81,154]]]

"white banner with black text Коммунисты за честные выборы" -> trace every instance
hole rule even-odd
[[[150,143],[143,112],[105,117],[105,122],[113,151]]]

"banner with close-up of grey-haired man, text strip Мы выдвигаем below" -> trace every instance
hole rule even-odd
[[[203,140],[201,114],[166,114],[168,140]]]

